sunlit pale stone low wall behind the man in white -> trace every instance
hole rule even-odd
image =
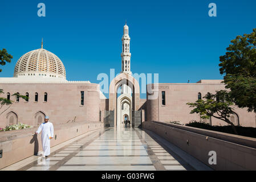
[[[101,122],[54,125],[54,138],[51,139],[51,147],[103,127],[104,123]],[[0,169],[42,151],[41,134],[34,135],[36,130],[37,127],[0,132],[0,150],[3,151],[2,158],[0,158]]]

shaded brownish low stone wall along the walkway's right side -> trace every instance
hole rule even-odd
[[[256,170],[255,138],[162,122],[142,125],[215,170]],[[217,164],[209,164],[209,151],[216,151]]]

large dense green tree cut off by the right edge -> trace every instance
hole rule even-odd
[[[226,88],[235,105],[256,112],[256,28],[231,40],[226,50],[219,64]]]

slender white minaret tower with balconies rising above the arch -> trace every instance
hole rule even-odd
[[[132,74],[131,72],[131,53],[130,53],[130,40],[131,38],[129,37],[129,27],[125,23],[124,26],[124,35],[122,37],[122,53],[121,53],[121,58],[122,58],[122,68],[121,68],[121,73],[128,73]]]

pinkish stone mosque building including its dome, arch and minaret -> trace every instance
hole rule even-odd
[[[38,126],[45,115],[54,123],[104,122],[107,127],[122,127],[129,119],[133,127],[144,121],[191,120],[226,125],[219,119],[200,119],[187,102],[194,102],[206,93],[225,89],[222,80],[200,80],[196,83],[158,84],[155,99],[140,98],[139,82],[132,76],[129,28],[124,26],[121,52],[121,73],[109,85],[109,98],[101,93],[99,84],[90,81],[67,81],[66,70],[58,56],[43,49],[30,51],[21,56],[14,69],[14,77],[0,78],[0,97],[10,98],[14,103],[1,110],[0,127],[14,123]],[[117,90],[121,93],[118,94]],[[26,95],[29,100],[12,96]],[[255,113],[235,107],[230,117],[235,125],[256,126]]]

